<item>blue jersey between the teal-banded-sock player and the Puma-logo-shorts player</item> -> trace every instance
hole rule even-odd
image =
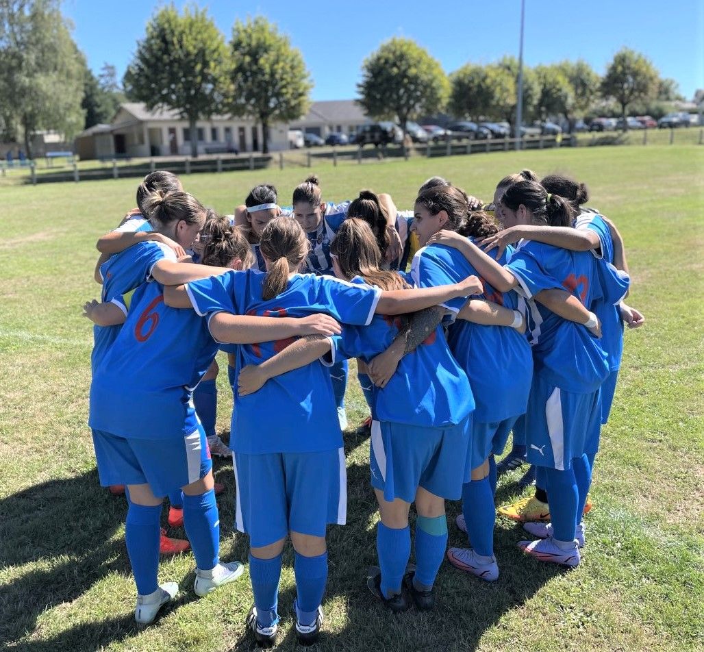
[[[470,275],[478,276],[477,270],[460,251],[438,244],[417,251],[411,275],[417,287],[434,287],[456,283]],[[512,310],[518,308],[519,299],[515,292],[499,292],[483,279],[482,285],[484,293],[479,295],[480,298]],[[452,299],[444,306],[456,315],[466,301]],[[470,379],[477,403],[475,421],[503,421],[525,412],[533,363],[530,346],[520,332],[511,327],[457,320],[449,329],[448,342]]]

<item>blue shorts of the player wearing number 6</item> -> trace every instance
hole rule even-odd
[[[181,438],[127,439],[93,431],[100,484],[149,484],[154,496],[166,496],[208,475],[213,468],[203,426]]]

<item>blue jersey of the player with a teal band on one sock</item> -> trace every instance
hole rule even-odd
[[[400,324],[398,317],[375,315],[368,326],[344,326],[341,335],[331,338],[334,360],[371,361],[391,346]],[[386,387],[375,386],[372,391],[372,416],[379,421],[447,427],[457,425],[474,409],[467,375],[453,358],[441,325],[401,358]]]

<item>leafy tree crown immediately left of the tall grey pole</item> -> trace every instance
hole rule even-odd
[[[448,107],[458,118],[501,117],[507,106],[515,106],[513,77],[498,65],[467,63],[450,75]]]

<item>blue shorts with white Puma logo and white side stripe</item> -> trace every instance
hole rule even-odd
[[[599,391],[576,394],[534,375],[526,411],[526,452],[537,466],[564,471],[586,452],[601,420]]]

